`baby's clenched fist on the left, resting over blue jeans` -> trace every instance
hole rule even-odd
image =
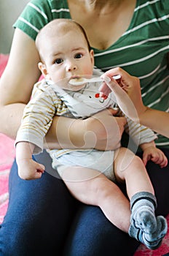
[[[17,160],[18,175],[25,180],[41,178],[44,173],[44,165],[35,162],[33,159]]]

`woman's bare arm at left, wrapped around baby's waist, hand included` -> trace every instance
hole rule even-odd
[[[9,61],[0,80],[0,132],[10,138],[16,137],[25,104],[41,75],[38,62],[34,40],[15,29]],[[125,124],[124,118],[116,120],[120,129],[114,131],[114,117],[106,110],[84,121],[56,116],[46,136],[47,146],[113,149],[119,143]]]

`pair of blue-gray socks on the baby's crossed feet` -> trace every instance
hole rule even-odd
[[[149,192],[138,192],[131,198],[130,206],[132,212],[129,235],[149,249],[157,249],[168,227],[164,217],[155,217],[156,198]]]

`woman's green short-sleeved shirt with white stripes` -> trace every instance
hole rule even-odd
[[[55,18],[71,18],[66,0],[32,0],[14,26],[35,39],[38,31]],[[122,67],[131,75],[137,76],[141,80],[144,104],[168,112],[168,0],[136,1],[127,31],[106,50],[93,50],[96,67],[103,71]],[[167,138],[157,136],[157,146],[169,147]]]

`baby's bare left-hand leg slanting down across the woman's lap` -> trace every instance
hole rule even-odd
[[[131,214],[129,200],[109,178],[85,167],[68,167],[62,178],[76,199],[99,206],[111,223],[128,232]]]

